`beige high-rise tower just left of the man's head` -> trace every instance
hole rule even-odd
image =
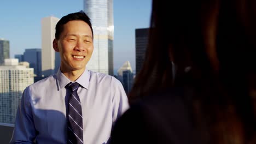
[[[53,16],[42,19],[42,74],[44,76],[54,74],[60,66],[60,54],[53,49],[55,26],[59,20]]]

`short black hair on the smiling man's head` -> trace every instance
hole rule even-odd
[[[83,10],[80,10],[77,13],[71,13],[71,14],[68,14],[66,16],[63,16],[60,19],[60,21],[57,22],[57,25],[55,27],[55,38],[56,39],[60,38],[60,34],[63,31],[63,25],[65,25],[67,22],[73,21],[73,20],[82,20],[82,21],[86,22],[90,26],[91,33],[92,33],[92,38],[94,38],[94,31],[92,31],[90,18],[88,17],[88,15],[86,15],[84,13]]]

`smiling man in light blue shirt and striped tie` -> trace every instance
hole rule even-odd
[[[94,49],[89,17],[83,11],[63,16],[53,47],[60,69],[25,89],[10,143],[107,143],[129,105],[117,79],[85,67]]]

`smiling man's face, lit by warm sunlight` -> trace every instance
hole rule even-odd
[[[54,40],[53,47],[60,52],[62,73],[84,71],[94,50],[90,26],[80,20],[67,22],[63,25],[60,39]]]

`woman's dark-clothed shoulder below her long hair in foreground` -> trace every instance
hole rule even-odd
[[[189,116],[183,92],[172,89],[148,95],[132,104],[118,119],[115,129],[120,134],[125,131],[129,139],[136,137],[142,143],[193,143]]]

